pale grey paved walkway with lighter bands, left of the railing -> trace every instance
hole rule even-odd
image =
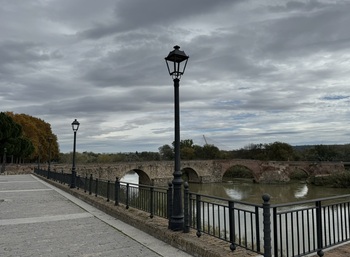
[[[32,175],[0,176],[0,256],[190,255]]]

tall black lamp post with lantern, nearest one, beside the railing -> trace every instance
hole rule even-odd
[[[184,213],[182,208],[182,172],[180,169],[180,78],[185,73],[189,56],[174,46],[174,50],[165,57],[169,75],[174,80],[174,109],[175,109],[175,167],[173,173],[173,208],[169,228],[173,231],[182,230],[184,226]],[[182,62],[183,65],[181,64]]]

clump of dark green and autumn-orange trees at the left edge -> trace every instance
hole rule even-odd
[[[6,149],[6,162],[34,162],[40,157],[48,161],[59,157],[57,136],[52,133],[51,125],[44,120],[27,114],[0,112],[0,155],[3,158]]]

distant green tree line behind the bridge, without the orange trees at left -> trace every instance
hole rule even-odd
[[[158,152],[76,153],[77,163],[113,163],[174,160],[174,143]],[[350,144],[291,146],[283,142],[249,144],[239,150],[220,150],[215,145],[195,145],[192,139],[180,141],[181,160],[252,159],[264,161],[349,161]],[[59,161],[72,162],[72,153],[61,153]]]

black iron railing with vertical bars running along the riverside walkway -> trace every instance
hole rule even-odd
[[[36,174],[70,184],[71,173],[34,170]],[[170,218],[172,185],[168,188],[76,177],[84,192],[102,196],[150,214]],[[201,195],[184,185],[184,232],[190,228],[246,248],[266,257],[294,257],[315,253],[350,240],[350,195],[271,205],[268,195],[262,204]]]

